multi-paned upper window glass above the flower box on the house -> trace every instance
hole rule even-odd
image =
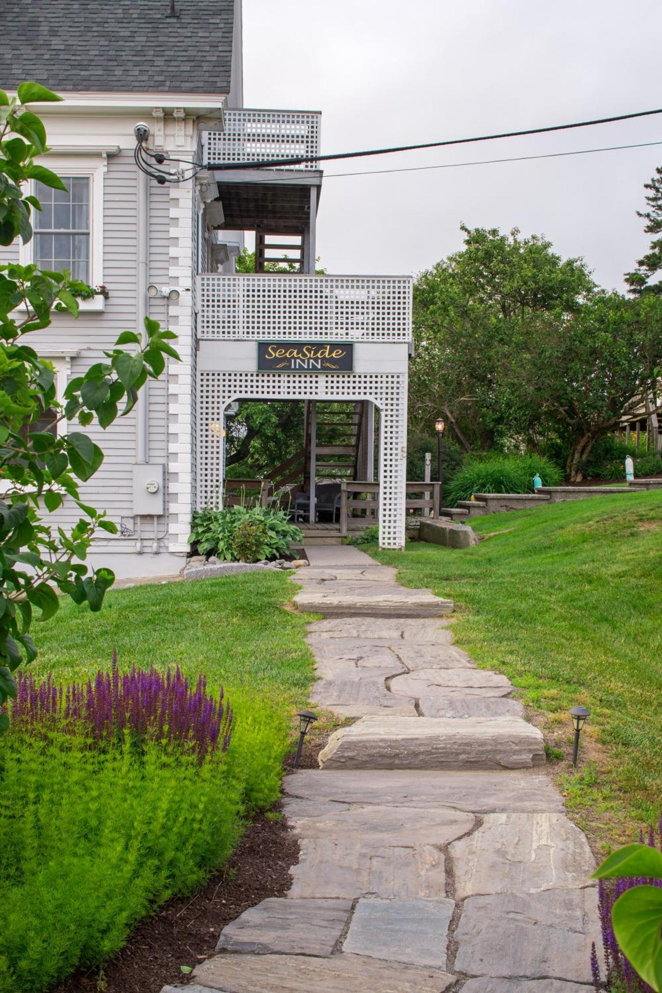
[[[40,269],[69,269],[89,282],[89,186],[87,176],[62,176],[67,190],[36,184],[41,211],[35,211],[35,264]]]

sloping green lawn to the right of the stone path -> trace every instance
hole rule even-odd
[[[407,586],[456,605],[457,643],[505,672],[568,729],[591,711],[595,762],[564,778],[598,836],[631,839],[662,811],[662,493],[476,517],[465,551],[411,543],[373,554]]]

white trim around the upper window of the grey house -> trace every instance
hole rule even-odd
[[[37,160],[59,176],[84,176],[89,179],[89,285],[103,285],[103,177],[107,169],[105,153],[100,155],[47,155]],[[30,192],[34,195],[35,184]],[[31,265],[35,260],[35,239],[21,244],[19,264]],[[81,311],[105,310],[105,298],[100,294],[91,300],[79,300]],[[57,318],[57,311],[53,316]]]

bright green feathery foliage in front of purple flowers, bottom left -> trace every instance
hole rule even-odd
[[[0,993],[41,993],[116,952],[131,927],[221,866],[243,778],[217,753],[0,740]]]

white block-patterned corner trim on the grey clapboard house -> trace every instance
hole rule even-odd
[[[168,372],[168,492],[171,552],[188,551],[194,499],[195,327],[191,292],[193,271],[192,184],[170,188],[169,285],[180,291],[170,305],[170,326],[177,334],[181,361]]]

